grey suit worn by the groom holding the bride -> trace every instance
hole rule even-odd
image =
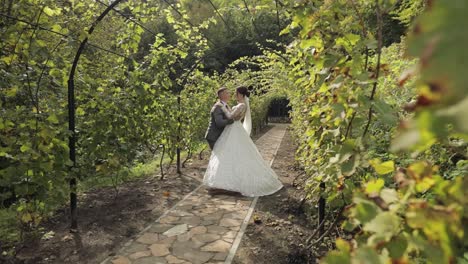
[[[223,112],[223,104],[217,102],[213,108],[211,108],[211,118],[208,129],[206,130],[205,139],[208,141],[210,148],[213,149],[216,141],[223,133],[224,128],[234,123],[234,120],[228,119],[226,114]]]

